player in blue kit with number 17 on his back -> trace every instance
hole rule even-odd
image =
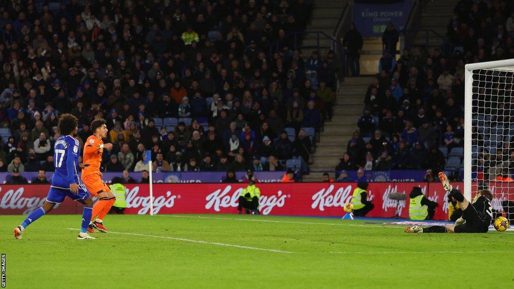
[[[71,114],[63,114],[59,118],[58,126],[62,136],[54,145],[53,164],[56,171],[52,177],[50,191],[43,207],[33,211],[20,226],[14,228],[14,238],[16,239],[22,239],[22,233],[28,225],[50,212],[56,204],[64,202],[66,196],[84,205],[82,227],[77,239],[95,239],[87,234],[87,227],[93,213],[93,200],[84,184],[80,183],[78,175],[79,169],[88,166],[87,164],[79,165],[79,141],[73,137],[78,132],[78,120]]]

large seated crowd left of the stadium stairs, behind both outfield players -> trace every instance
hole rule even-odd
[[[0,171],[53,171],[67,112],[81,141],[107,120],[107,172],[142,171],[146,150],[155,171],[308,169],[336,60],[293,50],[304,0],[54,4],[0,4]]]

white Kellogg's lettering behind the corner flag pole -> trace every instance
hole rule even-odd
[[[138,196],[138,193],[139,186],[136,186],[126,194],[127,208],[140,208],[140,210],[137,211],[137,213],[140,215],[144,215],[148,213],[148,211],[150,210],[150,196]],[[166,196],[154,197],[153,213],[159,213],[160,209],[163,207],[173,208],[173,206],[175,205],[175,200],[177,198],[180,198],[180,195],[173,195],[171,191],[167,191]]]

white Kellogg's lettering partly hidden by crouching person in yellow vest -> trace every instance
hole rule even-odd
[[[232,186],[228,185],[223,190],[217,189],[207,195],[205,198],[207,201],[205,208],[207,210],[213,208],[216,212],[219,212],[220,208],[237,208],[239,196],[243,188],[235,190],[232,195],[230,195],[231,190]],[[281,190],[279,190],[276,195],[261,195],[259,198],[259,211],[261,211],[263,215],[267,215],[274,207],[282,208],[285,205],[285,199],[287,197],[288,196],[283,194]]]

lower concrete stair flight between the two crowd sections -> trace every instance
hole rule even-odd
[[[334,171],[339,159],[346,151],[346,145],[353,132],[358,129],[357,120],[364,109],[364,97],[368,86],[373,82],[371,76],[346,78],[337,93],[332,121],[325,122],[320,142],[314,154],[311,171]],[[303,182],[320,182],[323,172],[311,172],[303,176]],[[335,179],[334,173],[329,173]]]

